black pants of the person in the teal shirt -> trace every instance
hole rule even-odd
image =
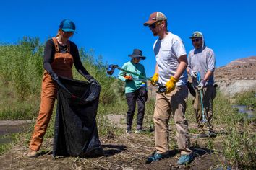
[[[145,102],[147,101],[148,94],[145,87],[141,87],[132,93],[125,94],[127,97],[128,112],[127,112],[127,126],[132,127],[132,119],[135,115],[135,107],[137,102],[138,115],[137,126],[142,126],[145,114]]]

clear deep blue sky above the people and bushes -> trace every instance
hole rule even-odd
[[[45,42],[56,35],[62,19],[72,19],[78,48],[93,49],[103,61],[122,66],[128,54],[139,48],[147,57],[147,76],[155,66],[153,37],[143,23],[152,12],[168,18],[168,30],[182,38],[187,53],[192,50],[189,36],[199,30],[216,53],[216,66],[237,58],[256,55],[256,1],[2,1],[0,42],[14,43],[23,36],[40,37]]]

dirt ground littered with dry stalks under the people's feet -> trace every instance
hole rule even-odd
[[[195,125],[190,125],[191,127]],[[194,127],[195,128],[195,127]],[[170,142],[176,145],[176,130],[170,129]],[[151,164],[145,164],[146,158],[154,151],[153,132],[145,131],[145,134],[124,134],[116,136],[108,134],[101,138],[105,156],[98,158],[53,158],[53,139],[46,138],[43,141],[40,156],[27,158],[28,151],[25,140],[13,146],[12,151],[0,156],[0,169],[222,169],[223,157],[221,156],[221,129],[217,130],[217,138],[197,138],[197,134],[191,135],[192,150],[195,159],[188,166],[176,164],[179,151],[170,150],[170,157]],[[210,151],[209,141],[212,141],[215,151]]]

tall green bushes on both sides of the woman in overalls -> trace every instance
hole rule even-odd
[[[0,120],[25,120],[38,114],[43,76],[43,48],[38,37],[24,37],[16,45],[0,45]],[[100,104],[115,104],[123,84],[106,75],[107,64],[93,50],[80,49],[82,64],[101,84]],[[86,81],[73,67],[74,79]]]

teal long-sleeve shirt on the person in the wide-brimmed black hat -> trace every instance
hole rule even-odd
[[[127,71],[132,71],[133,73],[137,73],[141,76],[146,76],[144,66],[140,63],[133,63],[132,60],[128,61],[127,63],[124,63],[124,66],[122,66],[121,68],[123,68],[124,70],[127,70]],[[125,81],[125,93],[126,94],[134,92],[137,89],[140,89],[140,87],[142,86],[142,83],[145,83],[145,86],[147,86],[146,82],[142,82],[140,80],[126,81],[124,76],[132,76],[135,79],[140,79],[140,77],[135,76],[131,73],[125,73],[124,71],[119,72],[118,79],[121,81]]]

